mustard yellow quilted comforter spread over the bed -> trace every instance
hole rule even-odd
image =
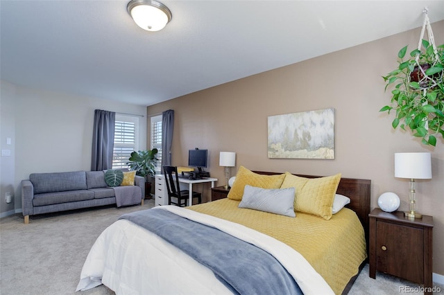
[[[300,212],[293,218],[238,205],[239,201],[219,199],[187,208],[243,224],[288,244],[308,260],[335,294],[343,292],[366,259],[364,229],[350,209],[343,208],[331,220],[324,220]]]

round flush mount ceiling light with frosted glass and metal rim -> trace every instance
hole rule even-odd
[[[173,17],[167,6],[157,1],[132,0],[126,9],[137,26],[153,32],[162,30]]]

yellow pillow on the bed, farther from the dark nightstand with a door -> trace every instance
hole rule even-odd
[[[237,170],[236,180],[227,197],[228,199],[241,201],[244,195],[244,188],[247,184],[257,188],[280,188],[284,177],[284,174],[260,175],[241,166],[239,170]]]

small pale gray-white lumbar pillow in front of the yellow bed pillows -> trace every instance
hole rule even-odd
[[[289,217],[294,213],[295,189],[292,188],[257,188],[246,185],[239,208],[249,208]]]

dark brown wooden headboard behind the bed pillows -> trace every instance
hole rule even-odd
[[[264,172],[264,171],[253,171],[257,174],[262,175],[277,175],[282,174],[282,172]],[[294,174],[299,177],[307,178],[318,178],[321,176],[315,175],[300,175]],[[345,195],[350,198],[350,204],[346,207],[355,211],[362,226],[364,227],[364,232],[366,233],[366,242],[368,249],[368,214],[370,213],[370,187],[371,180],[369,179],[354,179],[354,178],[341,178],[339,181],[338,189],[336,193],[340,195]]]

